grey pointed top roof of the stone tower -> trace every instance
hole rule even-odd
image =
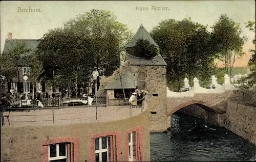
[[[144,26],[141,24],[140,28],[136,32],[136,34],[133,36],[133,39],[130,43],[126,45],[125,48],[134,47],[138,41],[138,39],[144,39],[148,40],[151,44],[153,44],[155,47],[159,47],[159,45],[154,41],[154,39],[151,37],[150,33],[146,31]]]

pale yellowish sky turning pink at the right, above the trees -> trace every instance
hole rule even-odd
[[[160,7],[166,10],[154,10]],[[39,39],[48,30],[61,27],[76,15],[92,9],[111,11],[133,33],[141,23],[150,32],[165,19],[191,17],[192,21],[212,26],[221,14],[227,14],[241,23],[244,35],[248,37],[244,45],[246,55],[236,60],[234,67],[246,66],[251,56],[248,50],[254,47],[251,40],[255,34],[245,29],[244,23],[255,21],[255,1],[1,1],[1,51],[8,32],[12,33],[13,39]]]

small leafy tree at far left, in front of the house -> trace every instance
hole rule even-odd
[[[4,52],[1,57],[1,74],[6,75],[9,81],[13,77],[18,78],[18,91],[20,90],[20,70],[24,65],[24,57],[29,54],[30,48],[27,48],[25,42],[15,41],[12,49]],[[3,65],[2,65],[3,64]]]

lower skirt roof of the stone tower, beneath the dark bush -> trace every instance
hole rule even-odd
[[[126,53],[127,59],[130,61],[130,65],[167,65],[161,55],[158,55],[152,59],[138,58]]]

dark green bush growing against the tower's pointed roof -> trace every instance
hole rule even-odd
[[[135,51],[135,56],[139,58],[152,59],[157,56],[157,48],[148,40],[138,39]]]

